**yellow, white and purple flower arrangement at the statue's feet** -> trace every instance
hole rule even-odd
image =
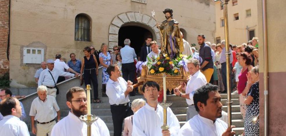
[[[187,71],[187,60],[191,57],[180,54],[176,59],[171,59],[167,54],[160,53],[157,58],[147,56],[146,66],[151,74],[178,75],[181,66]]]

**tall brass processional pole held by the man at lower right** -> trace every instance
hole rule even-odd
[[[230,53],[229,50],[229,39],[228,39],[228,15],[227,15],[227,4],[229,0],[221,0],[221,2],[224,4],[224,34],[225,34],[225,40],[226,40],[226,84],[227,84],[227,114],[228,114],[228,127],[231,126],[231,104],[233,103],[231,101],[231,79],[230,79]]]

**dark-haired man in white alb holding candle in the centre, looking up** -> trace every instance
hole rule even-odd
[[[154,81],[147,81],[142,91],[147,103],[133,116],[132,136],[176,136],[180,129],[179,121],[170,108],[167,108],[169,130],[162,131],[163,108],[158,104],[160,87]]]

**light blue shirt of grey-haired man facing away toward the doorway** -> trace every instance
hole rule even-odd
[[[121,63],[132,63],[134,59],[137,57],[135,50],[131,48],[129,45],[125,45],[122,49],[120,49],[120,55],[122,58]]]

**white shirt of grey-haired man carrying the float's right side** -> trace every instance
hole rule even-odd
[[[186,87],[186,94],[190,94],[190,99],[186,99],[188,105],[194,104],[193,96],[195,91],[207,83],[208,82],[205,75],[200,70],[197,71],[193,76],[190,76],[190,80],[188,81]]]

